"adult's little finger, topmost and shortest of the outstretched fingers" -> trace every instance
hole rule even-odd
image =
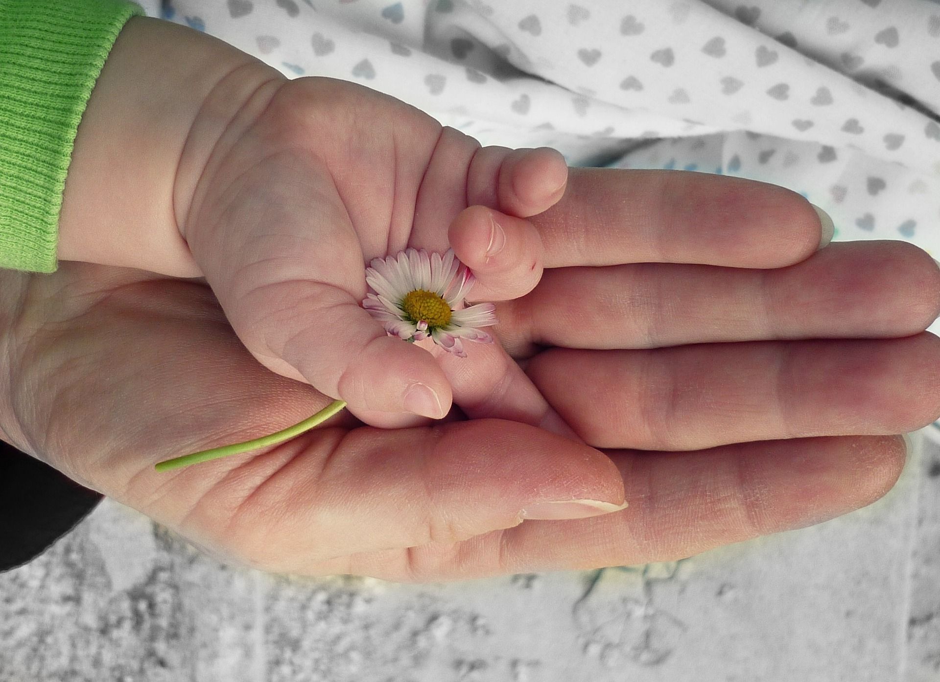
[[[532,216],[544,267],[702,263],[779,268],[832,239],[832,221],[783,187],[710,173],[572,168]]]

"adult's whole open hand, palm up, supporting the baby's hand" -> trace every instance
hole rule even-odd
[[[899,475],[903,444],[886,434],[940,413],[940,347],[921,333],[940,271],[909,244],[816,253],[795,194],[693,173],[572,170],[532,223],[548,270],[497,304],[500,344],[470,350],[492,349],[482,379],[501,379],[481,395],[470,365],[443,358],[466,421],[384,430],[340,412],[290,442],[157,473],[331,399],[261,367],[202,283],[68,263],[0,272],[0,427],[228,561],[437,581],[674,559],[838,516]],[[532,400],[546,395],[587,444],[486,418],[519,410],[504,346]],[[539,519],[624,489],[619,512]]]

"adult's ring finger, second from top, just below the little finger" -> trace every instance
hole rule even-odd
[[[720,341],[907,336],[940,315],[940,269],[897,240],[833,243],[789,268],[635,263],[544,271],[501,304],[513,357],[534,344],[643,349]]]

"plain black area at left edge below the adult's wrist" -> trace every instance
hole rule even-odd
[[[0,572],[23,566],[68,534],[103,495],[0,441]]]

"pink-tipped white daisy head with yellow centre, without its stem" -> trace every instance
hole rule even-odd
[[[398,256],[372,258],[366,282],[375,291],[362,306],[383,323],[385,331],[414,343],[429,336],[434,343],[465,358],[463,341],[492,344],[493,335],[480,327],[496,324],[493,303],[458,310],[476,277],[447,249],[442,257],[425,249],[407,249]]]

